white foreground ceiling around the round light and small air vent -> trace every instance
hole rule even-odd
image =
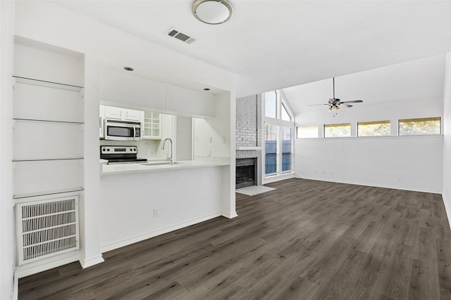
[[[221,25],[194,18],[191,0],[53,2],[237,74],[237,97],[451,51],[451,1],[230,0]]]

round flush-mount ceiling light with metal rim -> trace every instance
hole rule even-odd
[[[233,8],[226,0],[196,0],[192,14],[201,22],[216,25],[230,20]]]

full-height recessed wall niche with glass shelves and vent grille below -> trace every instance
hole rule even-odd
[[[70,223],[70,247],[58,230],[66,232],[68,226],[65,217],[60,218],[66,216],[65,210],[59,210],[66,205],[61,203],[66,198],[74,201],[70,211],[78,216],[78,201],[84,201],[85,64],[81,53],[20,37],[14,54],[13,200],[19,222],[16,276],[20,278],[80,259],[78,218]],[[42,210],[46,205],[51,214]],[[35,220],[20,219],[24,207],[39,213]],[[63,222],[55,223],[54,218]],[[40,231],[20,230],[23,222],[30,221],[38,222]],[[32,247],[21,243],[29,237],[39,242]],[[21,254],[32,256],[23,259]]]

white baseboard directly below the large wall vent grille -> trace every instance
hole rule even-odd
[[[58,256],[42,259],[41,261],[34,261],[32,263],[26,263],[23,266],[17,266],[14,275],[16,278],[23,278],[30,276],[44,270],[50,270],[59,266],[64,266],[74,261],[80,261],[80,252],[69,252]]]

